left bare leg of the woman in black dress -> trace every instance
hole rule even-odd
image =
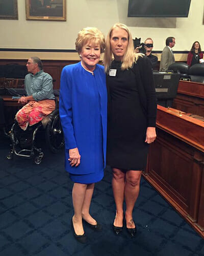
[[[113,195],[116,204],[116,216],[114,226],[122,227],[123,221],[123,201],[124,201],[124,187],[125,187],[125,174],[122,170],[113,168],[112,179]]]

